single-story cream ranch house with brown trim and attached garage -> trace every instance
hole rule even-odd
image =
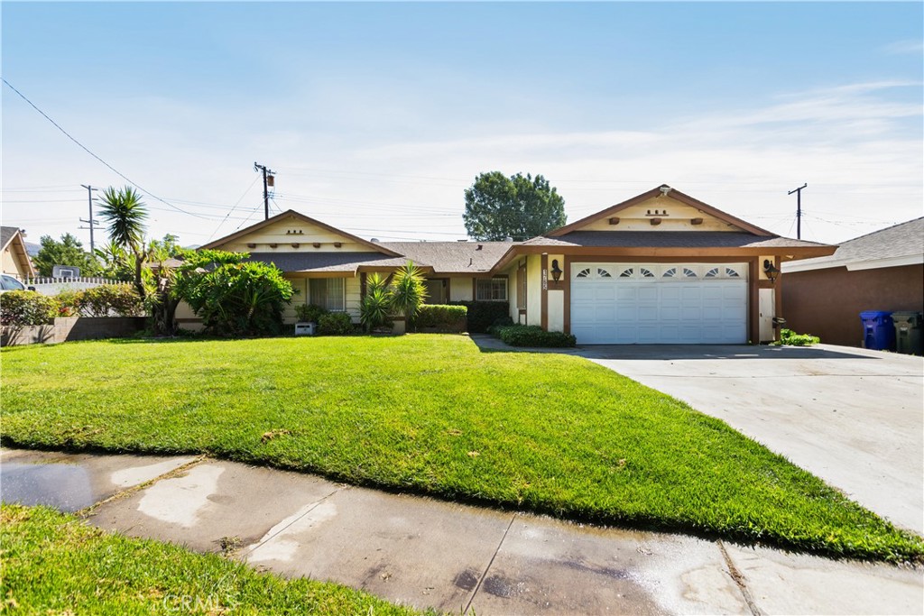
[[[744,344],[775,336],[782,262],[836,247],[775,236],[661,186],[525,242],[367,241],[285,211],[202,248],[285,272],[296,289],[289,322],[300,303],[358,321],[367,275],[412,260],[430,303],[506,301],[515,322],[578,344]]]

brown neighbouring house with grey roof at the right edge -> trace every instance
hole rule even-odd
[[[829,257],[786,263],[787,327],[861,346],[860,312],[924,311],[924,218],[844,242]]]

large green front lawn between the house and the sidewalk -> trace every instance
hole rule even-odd
[[[419,334],[59,344],[2,359],[7,444],[210,453],[565,517],[924,559],[921,537],[578,357]]]

